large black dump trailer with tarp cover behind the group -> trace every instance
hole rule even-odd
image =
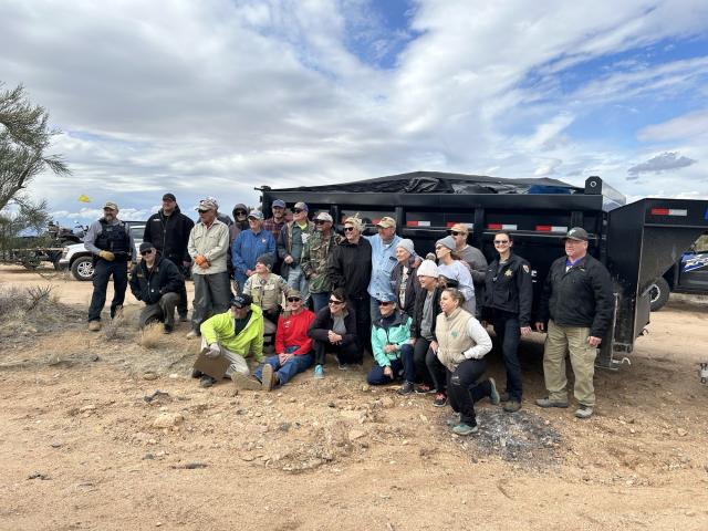
[[[425,256],[455,223],[469,228],[468,242],[488,260],[496,256],[493,235],[513,235],[514,252],[529,260],[534,282],[534,312],[553,260],[563,256],[571,227],[590,235],[589,252],[610,270],[615,293],[611,330],[597,365],[616,368],[649,322],[650,288],[708,228],[708,200],[625,197],[589,177],[584,188],[554,179],[502,179],[461,174],[416,171],[323,186],[261,187],[263,212],[273,200],[292,207],[305,201],[310,215],[327,211],[341,229],[358,215],[369,233],[384,216],[396,219],[398,233]]]

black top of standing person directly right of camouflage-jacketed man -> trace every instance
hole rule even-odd
[[[368,282],[372,278],[372,244],[363,236],[358,243],[347,239],[334,246],[330,254],[327,274],[332,289],[344,288],[348,298],[368,295]]]

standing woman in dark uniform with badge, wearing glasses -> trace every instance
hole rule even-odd
[[[494,235],[494,248],[499,258],[491,262],[487,271],[482,308],[482,323],[490,322],[493,325],[507,368],[507,391],[501,394],[507,413],[521,408],[521,365],[518,351],[521,336],[531,333],[533,302],[531,266],[511,252],[512,246],[509,232],[502,230]]]

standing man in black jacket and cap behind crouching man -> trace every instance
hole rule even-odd
[[[174,194],[163,196],[163,208],[147,218],[143,241],[152,243],[155,249],[168,259],[183,274],[181,291],[179,292],[179,303],[177,313],[179,321],[187,321],[187,288],[184,282],[184,273],[191,266],[191,258],[187,252],[189,232],[195,222],[181,214],[177,198]]]

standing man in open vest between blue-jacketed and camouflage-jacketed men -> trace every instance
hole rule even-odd
[[[314,232],[314,223],[308,220],[308,205],[295,202],[292,209],[292,221],[285,223],[278,239],[278,258],[282,260],[281,277],[288,285],[302,293],[304,304],[308,302],[308,279],[302,272],[302,250],[308,238]]]

